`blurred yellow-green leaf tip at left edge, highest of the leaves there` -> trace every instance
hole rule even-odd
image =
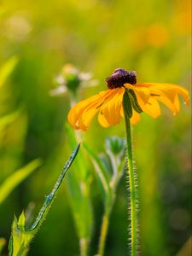
[[[6,79],[9,78],[10,73],[12,73],[18,61],[19,61],[18,57],[13,56],[9,58],[9,60],[6,61],[2,67],[0,67],[0,88],[1,86],[3,86]]]

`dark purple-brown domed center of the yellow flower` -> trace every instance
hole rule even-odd
[[[137,73],[135,71],[126,71],[123,68],[117,68],[113,74],[106,79],[108,89],[122,87],[124,84],[136,84]]]

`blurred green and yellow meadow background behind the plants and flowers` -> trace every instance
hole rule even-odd
[[[3,201],[0,237],[9,241],[14,213],[19,216],[23,209],[35,207],[36,216],[69,155],[64,127],[69,96],[49,96],[61,67],[72,63],[98,80],[98,86],[80,90],[79,99],[105,90],[104,79],[117,67],[136,70],[139,82],[181,84],[189,90],[190,40],[189,0],[1,1],[0,65],[13,55],[19,62],[0,88],[0,117],[18,109],[20,113],[0,131],[0,184],[31,160],[41,158],[43,166]],[[159,119],[143,114],[142,121],[133,127],[140,250],[146,256],[176,255],[190,237],[191,119],[190,108],[183,102],[181,105],[176,117],[163,107]],[[95,120],[83,137],[99,153],[108,135],[124,137],[123,122],[103,129]],[[90,172],[91,168],[90,164]],[[103,212],[94,177],[91,197],[93,255]],[[123,177],[109,226],[108,256],[127,254],[126,212]],[[29,255],[79,255],[66,183]]]

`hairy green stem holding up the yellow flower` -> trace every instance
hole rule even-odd
[[[128,176],[131,194],[131,256],[137,255],[137,201],[136,184],[133,170],[132,146],[131,146],[131,125],[130,118],[125,113],[126,145],[128,158]]]

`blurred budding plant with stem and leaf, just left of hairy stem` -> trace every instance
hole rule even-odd
[[[108,137],[105,145],[106,152],[97,156],[95,151],[84,143],[84,148],[86,148],[88,154],[90,154],[90,158],[95,167],[96,179],[104,205],[98,253],[96,254],[100,256],[104,255],[109,218],[116,198],[116,189],[119,184],[119,179],[124,172],[125,141],[119,137]]]

